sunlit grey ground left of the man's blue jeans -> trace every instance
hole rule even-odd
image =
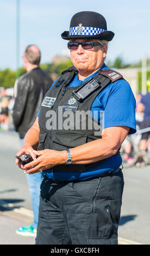
[[[34,245],[35,237],[21,236],[15,233],[15,230],[19,227],[33,223],[33,211],[31,210],[32,206],[26,178],[19,172],[18,168],[16,168],[14,161],[15,153],[21,147],[20,140],[11,126],[10,132],[0,131],[0,141],[2,181],[0,191],[0,245]],[[16,172],[13,172],[13,180],[9,178],[8,165],[10,173],[16,168]],[[20,180],[20,187],[18,187],[17,179]],[[12,187],[12,185],[14,185],[14,187]]]

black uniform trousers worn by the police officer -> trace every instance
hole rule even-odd
[[[117,244],[123,174],[57,184],[41,184],[38,245]]]

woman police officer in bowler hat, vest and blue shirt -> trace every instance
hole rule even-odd
[[[117,244],[123,191],[119,149],[136,131],[135,99],[121,74],[104,64],[114,33],[101,14],[75,14],[70,31],[61,36],[70,40],[74,66],[46,94],[17,153],[34,161],[23,167],[16,160],[24,173],[44,174],[36,243]]]

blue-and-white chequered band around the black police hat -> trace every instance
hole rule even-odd
[[[69,35],[97,35],[106,31],[103,28],[93,28],[93,27],[71,27]]]

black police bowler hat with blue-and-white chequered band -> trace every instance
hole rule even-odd
[[[61,37],[70,39],[99,39],[111,41],[114,33],[107,31],[105,18],[94,11],[80,11],[73,15],[70,31],[64,31]]]

